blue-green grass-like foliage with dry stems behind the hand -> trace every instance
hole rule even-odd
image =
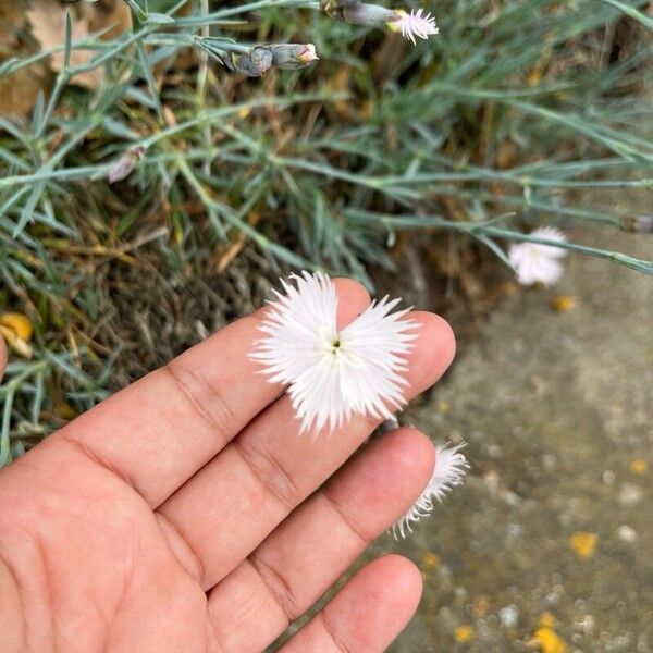
[[[440,34],[417,47],[306,0],[126,1],[131,30],[75,40],[69,17],[60,46],[0,60],[7,82],[63,52],[30,119],[0,116],[0,309],[36,329],[0,389],[0,465],[249,308],[252,269],[369,282],[402,230],[453,230],[509,266],[531,225],[638,224],[578,198],[653,184],[648,0],[439,0]],[[313,42],[320,61],[224,65],[270,42]]]

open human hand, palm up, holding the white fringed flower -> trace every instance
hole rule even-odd
[[[345,324],[370,299],[354,281],[335,283]],[[260,651],[417,498],[434,464],[419,431],[364,444],[377,424],[355,417],[331,435],[298,435],[283,389],[248,357],[261,317],[0,471],[3,652]],[[454,355],[442,319],[411,318],[406,398]],[[0,372],[4,362],[0,338]],[[374,560],[282,650],[382,651],[420,593],[411,563]]]

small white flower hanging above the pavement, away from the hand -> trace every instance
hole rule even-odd
[[[567,242],[565,234],[554,226],[541,226],[530,235],[558,243]],[[551,285],[563,275],[563,264],[559,259],[566,254],[565,249],[552,245],[513,243],[508,258],[517,270],[517,281],[521,285],[532,285],[538,282]]]

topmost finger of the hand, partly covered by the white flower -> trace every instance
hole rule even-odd
[[[344,325],[370,298],[356,281],[335,280],[335,286]],[[157,507],[283,391],[249,358],[264,310],[102,402],[50,441],[72,442]]]

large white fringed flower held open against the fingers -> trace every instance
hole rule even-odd
[[[391,313],[399,299],[384,297],[338,331],[331,279],[303,272],[291,281],[281,282],[285,295],[274,292],[251,357],[271,383],[287,385],[301,431],[332,431],[354,414],[389,417],[405,403],[406,355],[417,337],[409,309]]]

